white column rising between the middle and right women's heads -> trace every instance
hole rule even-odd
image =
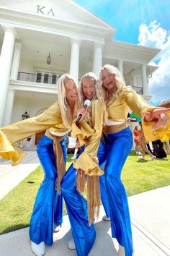
[[[99,77],[99,72],[102,69],[102,43],[94,42],[94,56],[93,56],[93,72]]]

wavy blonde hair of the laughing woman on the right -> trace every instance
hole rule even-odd
[[[104,85],[103,85],[103,81],[102,81],[102,71],[106,69],[107,72],[109,72],[109,74],[115,74],[115,92],[112,93],[112,95],[109,95],[108,93],[108,90],[107,88],[104,88]],[[120,73],[120,71],[112,66],[112,65],[109,65],[109,64],[105,64],[102,69],[101,69],[101,72],[99,73],[99,85],[100,85],[100,88],[102,89],[103,91],[103,94],[104,94],[104,100],[108,100],[108,98],[112,98],[112,99],[116,99],[117,98],[117,95],[120,93],[120,90],[125,87],[125,81],[124,81],[124,78],[122,76],[122,74]]]

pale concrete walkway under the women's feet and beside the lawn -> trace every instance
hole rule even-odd
[[[4,162],[0,164],[0,198],[24,179],[23,174],[35,169],[39,165],[36,153],[28,153],[27,160],[23,159],[20,166],[10,166]],[[13,169],[12,169],[13,168]],[[19,169],[17,169],[19,168]],[[2,174],[1,171],[4,171]],[[15,173],[15,174],[13,174]],[[11,177],[11,178],[10,178]],[[11,185],[9,185],[12,180]],[[7,186],[8,184],[8,186]],[[8,189],[4,189],[8,187]],[[168,256],[170,255],[170,186],[154,189],[128,198],[130,216],[133,229],[135,256]],[[104,210],[101,207],[100,218],[97,221],[97,239],[89,256],[115,256],[118,244],[110,234],[110,223],[102,221]],[[46,256],[76,256],[76,251],[68,249],[71,239],[71,229],[68,216],[63,218],[61,231],[54,234],[52,247],[46,248]],[[0,236],[0,256],[32,256],[28,228],[20,229]]]

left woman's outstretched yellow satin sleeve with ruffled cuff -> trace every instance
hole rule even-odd
[[[58,102],[55,102],[39,116],[2,127],[0,129],[0,155],[4,159],[11,159],[12,165],[17,165],[25,153],[13,146],[15,142],[61,123],[60,107]]]

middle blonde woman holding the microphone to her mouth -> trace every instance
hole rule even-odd
[[[102,94],[99,90],[99,82],[95,74],[89,72],[81,77],[79,83],[79,93],[81,98],[81,106],[86,99],[91,101],[91,105],[84,116],[84,108],[80,108],[79,114],[83,114],[84,119],[80,121],[78,126],[80,131],[78,134],[79,141],[81,141],[81,131],[85,130],[86,140],[84,140],[85,148],[79,157],[73,161],[73,165],[68,168],[63,180],[61,182],[62,195],[66,202],[68,217],[71,223],[71,230],[73,240],[68,242],[70,249],[75,249],[79,256],[86,256],[89,254],[91,247],[95,240],[94,230],[94,211],[99,213],[100,192],[99,192],[99,178],[103,174],[102,168],[104,161],[99,163],[97,160],[97,151],[100,148],[103,151],[104,142],[102,142],[101,135],[104,126],[104,121],[107,117],[107,111],[104,107]],[[87,124],[87,125],[86,125]],[[89,128],[88,128],[89,127]],[[88,135],[88,129],[93,131],[92,136]],[[74,132],[74,129],[73,129]],[[74,168],[73,168],[74,167]],[[77,169],[77,177],[76,177]],[[87,203],[81,195],[84,190],[85,174],[87,176]],[[102,202],[104,209],[109,218],[109,205],[107,195],[105,192],[104,176],[100,181]],[[79,192],[77,192],[77,190]],[[89,217],[89,219],[88,219]]]

